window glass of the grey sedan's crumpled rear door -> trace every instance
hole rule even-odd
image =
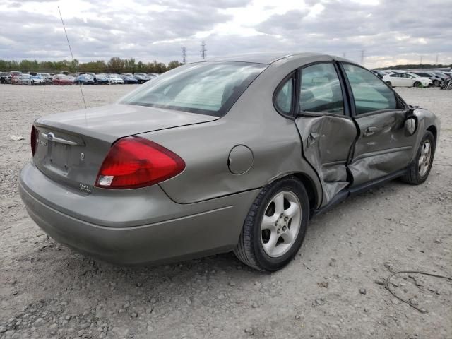
[[[299,107],[304,112],[344,114],[342,88],[333,64],[302,69]]]

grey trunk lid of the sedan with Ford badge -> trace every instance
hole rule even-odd
[[[136,105],[107,105],[35,121],[33,162],[56,182],[90,193],[112,144],[119,138],[214,121],[218,117]]]

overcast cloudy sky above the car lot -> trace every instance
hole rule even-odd
[[[364,66],[452,64],[452,0],[0,0],[0,59],[326,52]]]

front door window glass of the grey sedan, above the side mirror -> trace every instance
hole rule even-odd
[[[357,114],[381,109],[397,109],[396,95],[373,73],[362,67],[343,64],[355,98]]]

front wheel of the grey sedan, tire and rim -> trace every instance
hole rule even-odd
[[[432,132],[425,132],[421,144],[417,150],[415,160],[408,167],[407,174],[402,177],[408,184],[419,185],[425,182],[432,169],[435,153],[435,138]]]

